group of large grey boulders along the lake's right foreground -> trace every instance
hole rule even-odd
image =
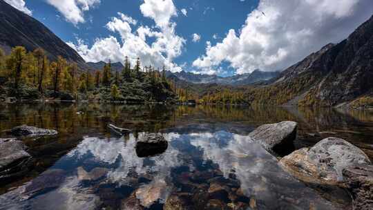
[[[270,153],[290,146],[296,139],[296,122],[259,126],[249,134]],[[293,151],[280,166],[298,180],[338,186],[352,194],[354,209],[373,209],[373,165],[361,149],[336,137],[327,137],[311,148]]]

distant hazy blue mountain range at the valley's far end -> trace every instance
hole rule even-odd
[[[252,73],[243,75],[235,75],[232,77],[219,77],[217,75],[198,75],[181,71],[180,73],[167,72],[168,77],[178,77],[178,79],[190,82],[193,84],[222,84],[231,86],[241,86],[247,84],[254,84],[260,81],[267,81],[276,77],[279,72],[264,72],[261,70],[254,70]]]

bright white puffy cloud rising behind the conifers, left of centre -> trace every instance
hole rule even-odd
[[[128,56],[131,63],[140,57],[143,66],[162,67],[165,65],[171,71],[182,70],[180,66],[173,63],[173,59],[182,53],[185,39],[175,33],[176,23],[171,17],[176,15],[173,1],[145,0],[140,6],[144,17],[150,17],[155,22],[155,27],[139,26],[137,21],[122,13],[113,17],[106,24],[111,32],[117,32],[120,40],[109,36],[96,39],[93,46],[88,46],[82,39],[77,43],[68,42],[68,45],[77,50],[86,61],[124,61]],[[148,43],[149,37],[155,41]]]

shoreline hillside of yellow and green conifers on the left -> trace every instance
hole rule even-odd
[[[22,46],[10,55],[0,50],[0,99],[58,99],[122,102],[173,102],[174,90],[163,73],[149,66],[141,69],[140,59],[133,68],[126,58],[124,69],[111,70],[105,64],[94,74],[79,70],[63,57],[50,61],[43,49],[27,52]]]

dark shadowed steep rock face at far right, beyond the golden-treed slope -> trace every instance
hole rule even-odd
[[[350,37],[329,49],[329,72],[306,97],[326,105],[348,102],[373,90],[373,16]]]

